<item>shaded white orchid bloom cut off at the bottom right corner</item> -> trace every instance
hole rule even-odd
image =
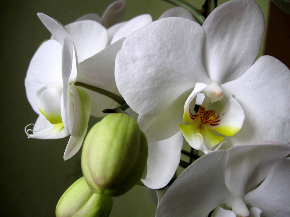
[[[202,156],[169,187],[156,217],[206,217],[216,207],[211,216],[289,216],[289,153],[289,145],[260,144]]]

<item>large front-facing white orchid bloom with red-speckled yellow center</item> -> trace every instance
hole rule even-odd
[[[271,56],[254,63],[263,33],[259,5],[232,0],[214,9],[202,26],[169,17],[124,40],[116,56],[115,80],[139,114],[141,130],[154,143],[149,145],[147,165],[153,158],[166,168],[152,162],[156,174],[174,174],[167,165],[178,165],[180,158],[171,156],[180,153],[178,148],[175,155],[167,153],[172,146],[182,147],[183,141],[160,147],[156,143],[180,129],[193,148],[205,153],[225,136],[230,136],[228,145],[290,140],[290,71]],[[205,99],[195,114],[199,93]]]

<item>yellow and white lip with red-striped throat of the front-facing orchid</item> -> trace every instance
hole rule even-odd
[[[197,94],[203,92],[205,99],[198,112],[193,115],[190,105],[195,105]],[[218,102],[223,98],[223,90],[217,83],[209,85],[196,83],[195,89],[188,96],[184,104],[183,121],[188,124],[178,124],[186,141],[194,149],[209,153],[217,150],[223,143],[224,137],[236,134],[242,127],[245,113],[239,102],[230,97],[225,103]],[[213,104],[215,103],[215,104]],[[216,110],[206,110],[208,106]],[[220,111],[221,109],[221,111]],[[221,136],[220,136],[220,135]],[[214,149],[214,146],[220,145]]]

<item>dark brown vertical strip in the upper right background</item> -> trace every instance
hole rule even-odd
[[[265,55],[279,59],[290,68],[290,15],[270,2]]]

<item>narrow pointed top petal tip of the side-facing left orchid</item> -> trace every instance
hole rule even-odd
[[[69,33],[66,31],[65,27],[60,22],[47,16],[46,14],[38,13],[37,16],[43,25],[50,31],[53,38],[56,39],[62,46],[64,38],[69,36]]]

